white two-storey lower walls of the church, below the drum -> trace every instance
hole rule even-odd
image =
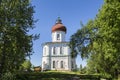
[[[60,54],[60,47],[63,48],[63,54]],[[53,54],[53,48],[56,48],[55,54]],[[53,61],[58,63],[57,68],[53,68]],[[45,66],[43,66],[43,63],[46,62],[49,65],[49,69],[60,70],[60,62],[61,61],[63,61],[65,64],[64,69],[61,69],[61,70],[71,70],[72,59],[70,57],[70,48],[69,48],[67,42],[64,42],[64,43],[62,43],[62,42],[61,43],[58,43],[58,42],[52,43],[51,42],[51,43],[45,44],[43,46],[42,68],[45,67]],[[74,62],[74,60],[73,60],[73,62]]]

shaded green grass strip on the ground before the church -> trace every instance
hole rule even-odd
[[[40,73],[19,73],[18,80],[74,80],[75,78],[87,80],[99,80],[100,75],[80,75],[65,72],[40,72]]]

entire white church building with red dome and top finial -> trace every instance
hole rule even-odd
[[[42,70],[72,71],[76,69],[75,58],[70,55],[69,42],[65,41],[66,33],[66,27],[58,18],[52,27],[52,42],[42,44]]]

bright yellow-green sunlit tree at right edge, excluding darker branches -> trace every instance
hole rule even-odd
[[[101,40],[97,39],[96,44],[101,46],[100,58],[104,60],[103,73],[111,77],[117,77],[120,70],[120,1],[105,0],[105,4],[96,18],[96,26],[99,26]],[[113,65],[114,64],[114,65]],[[109,66],[108,66],[109,65]],[[102,66],[101,66],[102,67]],[[100,67],[100,68],[101,68]]]

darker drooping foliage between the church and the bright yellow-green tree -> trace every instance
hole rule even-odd
[[[90,44],[95,37],[94,32],[96,31],[96,28],[91,27],[94,26],[93,24],[94,22],[90,20],[86,26],[82,25],[82,28],[71,36],[69,46],[72,51],[72,57],[76,57],[78,54],[80,54],[82,58],[89,57],[88,54],[90,54],[92,48]]]

